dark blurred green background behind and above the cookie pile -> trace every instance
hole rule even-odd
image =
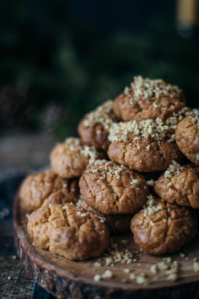
[[[77,135],[83,115],[137,74],[179,85],[189,106],[198,106],[197,4],[1,1],[0,154],[12,148],[30,160],[27,144],[40,144],[38,156],[46,140]]]

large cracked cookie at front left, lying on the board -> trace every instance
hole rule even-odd
[[[98,257],[109,245],[103,220],[72,203],[39,208],[30,215],[27,228],[38,246],[69,260]]]

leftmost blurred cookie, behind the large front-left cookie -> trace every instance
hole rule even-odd
[[[19,197],[27,208],[36,210],[50,203],[77,202],[79,198],[77,179],[63,179],[52,171],[32,173],[21,183]]]

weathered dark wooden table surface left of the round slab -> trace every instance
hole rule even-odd
[[[47,132],[7,132],[0,136],[0,184],[48,163],[55,139]],[[17,187],[17,186],[16,186]],[[10,199],[1,198],[12,206]],[[0,298],[30,299],[34,282],[16,256],[12,221],[0,220]],[[16,258],[16,259],[15,259]]]

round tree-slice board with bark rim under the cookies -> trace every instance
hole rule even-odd
[[[16,247],[29,277],[59,299],[199,298],[199,273],[193,269],[194,259],[199,260],[198,236],[175,253],[153,256],[140,251],[133,241],[132,233],[114,235],[111,237],[119,245],[119,251],[125,252],[128,249],[132,252],[132,262],[118,262],[114,266],[106,266],[105,259],[110,255],[108,252],[100,258],[70,261],[39,248],[28,236],[26,214],[30,211],[20,203],[18,196],[15,198],[13,211]],[[121,244],[123,239],[129,243]],[[185,257],[181,257],[180,253],[185,254]],[[157,273],[150,270],[152,265],[163,262],[165,257],[178,261],[176,281],[167,280],[165,269],[156,267]],[[95,262],[99,259],[101,266],[96,266]],[[172,262],[165,263],[172,265]],[[96,274],[102,275],[108,269],[113,274],[111,278],[100,281],[93,279]],[[136,280],[130,279],[132,273],[135,277],[144,273],[149,283],[138,284]]]

